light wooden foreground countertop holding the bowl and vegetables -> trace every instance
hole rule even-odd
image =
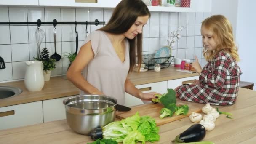
[[[189,104],[188,104],[189,105]],[[202,107],[202,104],[198,104]],[[215,106],[216,107],[216,106]],[[221,107],[220,111],[233,113],[234,119],[220,115],[213,131],[207,131],[203,141],[215,144],[254,144],[256,141],[256,91],[239,88],[236,104]],[[189,118],[160,125],[160,141],[155,144],[171,144],[176,135],[194,123]],[[3,144],[87,144],[90,136],[73,132],[66,120],[29,125],[0,131]],[[147,144],[151,144],[147,142]]]

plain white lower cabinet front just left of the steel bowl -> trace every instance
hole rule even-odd
[[[66,119],[66,110],[63,100],[72,96],[43,101],[43,122]]]

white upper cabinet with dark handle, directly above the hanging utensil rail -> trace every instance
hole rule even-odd
[[[115,8],[121,0],[97,0],[97,3],[75,2],[75,0],[39,0],[40,6],[66,6],[66,7],[91,7],[91,8]]]

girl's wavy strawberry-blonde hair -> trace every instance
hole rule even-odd
[[[233,30],[229,20],[223,15],[213,15],[202,22],[202,26],[213,32],[213,39],[216,40],[217,47],[214,51],[209,51],[203,45],[203,55],[207,61],[211,61],[213,56],[221,50],[229,53],[235,60],[239,61],[237,46],[233,38]]]

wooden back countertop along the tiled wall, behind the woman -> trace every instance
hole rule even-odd
[[[132,72],[128,75],[134,85],[146,83],[155,83],[165,80],[174,80],[184,77],[197,76],[198,74],[189,74],[175,71],[176,68],[169,67],[161,69],[160,72],[149,70],[147,72]],[[65,76],[51,77],[50,81],[46,81],[42,91],[29,92],[24,85],[24,80],[8,83],[0,83],[0,86],[13,86],[23,90],[19,96],[13,96],[6,99],[0,99],[0,107],[6,107],[16,104],[24,104],[34,101],[42,101],[47,99],[55,99],[66,96],[74,96],[79,94],[79,89],[75,87]]]

